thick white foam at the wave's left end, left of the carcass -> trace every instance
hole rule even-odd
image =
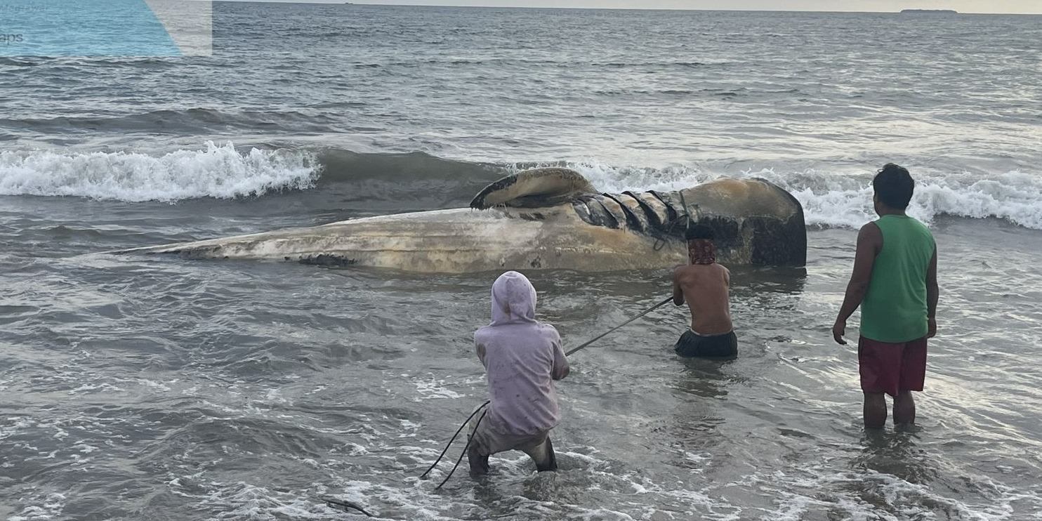
[[[0,195],[76,196],[120,201],[230,199],[314,185],[320,168],[304,151],[206,143],[205,150],[135,152],[0,151]]]

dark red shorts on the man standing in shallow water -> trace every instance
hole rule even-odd
[[[922,391],[926,378],[926,337],[908,342],[858,339],[861,390],[866,393]]]

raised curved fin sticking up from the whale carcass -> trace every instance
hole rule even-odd
[[[493,206],[540,207],[552,206],[582,194],[596,193],[596,189],[582,174],[567,168],[536,168],[499,179],[474,196],[470,207],[477,209]]]

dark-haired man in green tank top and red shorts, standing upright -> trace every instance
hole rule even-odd
[[[937,246],[926,226],[904,215],[914,188],[909,171],[894,164],[872,179],[879,219],[858,232],[853,273],[833,325],[833,338],[846,344],[846,320],[861,306],[865,428],[886,425],[887,394],[894,399],[894,426],[915,422],[912,391],[922,391],[926,339],[937,333]]]

